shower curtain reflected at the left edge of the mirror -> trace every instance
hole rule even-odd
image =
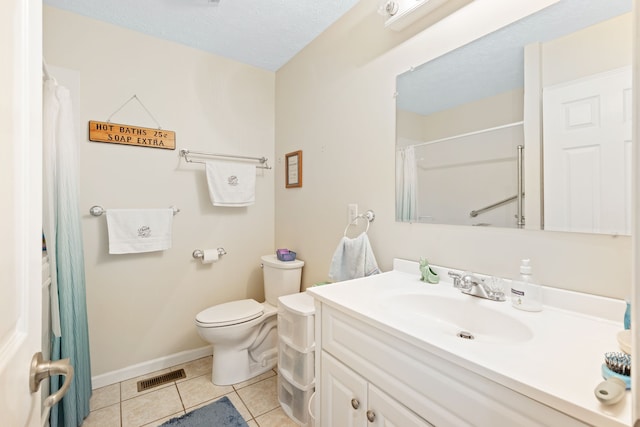
[[[413,145],[396,151],[396,221],[415,222],[418,216],[418,177]]]

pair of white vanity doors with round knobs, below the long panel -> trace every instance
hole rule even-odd
[[[326,352],[321,381],[321,427],[433,427]]]

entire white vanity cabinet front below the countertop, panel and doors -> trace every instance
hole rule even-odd
[[[316,302],[316,321],[317,426],[588,425],[358,313]]]

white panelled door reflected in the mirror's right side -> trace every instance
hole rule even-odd
[[[631,234],[631,93],[628,67],[544,90],[545,229]]]

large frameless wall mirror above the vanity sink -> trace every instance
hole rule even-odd
[[[399,75],[396,220],[630,234],[631,8],[561,0]]]

